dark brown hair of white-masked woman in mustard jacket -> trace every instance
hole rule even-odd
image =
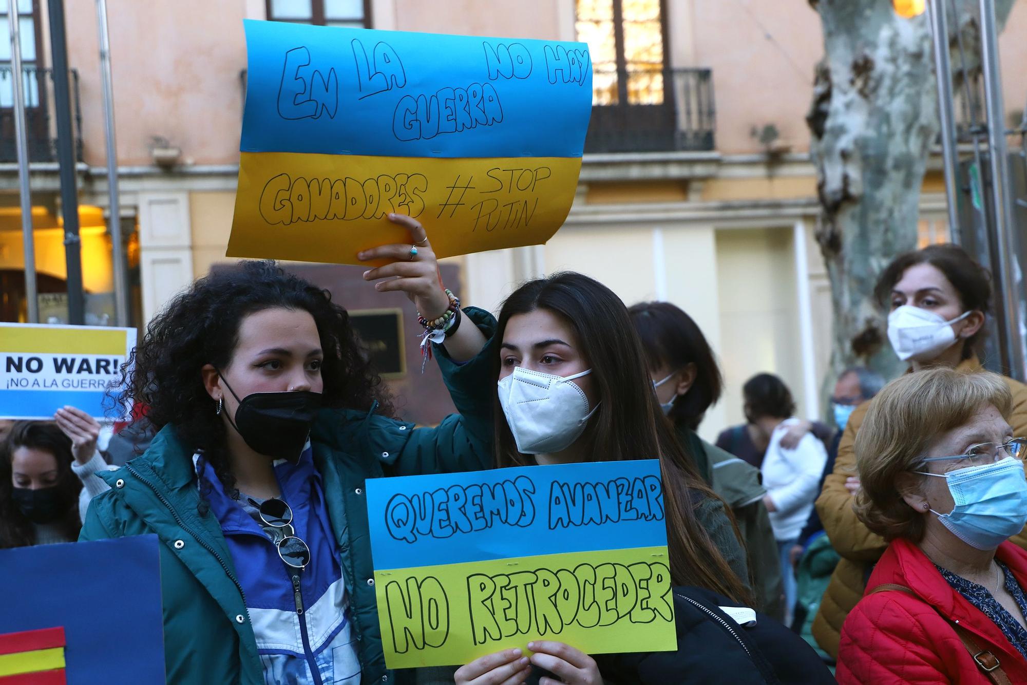
[[[907,269],[917,264],[929,264],[945,275],[959,294],[963,311],[980,311],[986,315],[991,312],[991,273],[965,250],[953,244],[928,245],[896,257],[874,287],[874,297],[883,308],[889,307],[891,289],[902,280]],[[966,339],[962,349],[964,359],[974,354],[983,338],[984,327],[981,327]]]

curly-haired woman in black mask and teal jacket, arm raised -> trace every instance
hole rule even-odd
[[[128,396],[160,432],[104,473],[81,537],[160,538],[168,682],[394,681],[365,480],[489,465],[490,369],[474,357],[494,319],[461,313],[421,225],[389,218],[411,243],[358,255],[388,262],[365,278],[415,302],[462,416],[390,418],[346,310],[270,263],[200,278],[136,350]]]

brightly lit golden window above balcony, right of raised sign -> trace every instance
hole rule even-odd
[[[578,40],[588,43],[594,105],[662,105],[663,0],[576,0]]]

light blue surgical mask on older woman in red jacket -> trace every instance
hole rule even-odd
[[[916,472],[947,481],[955,506],[949,513],[930,512],[975,549],[994,549],[1027,523],[1027,478],[1019,459],[1006,457],[948,473]]]

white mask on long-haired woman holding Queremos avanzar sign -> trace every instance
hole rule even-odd
[[[588,397],[576,383],[592,369],[573,376],[554,376],[517,367],[499,381],[499,404],[522,454],[553,454],[574,444],[588,419]]]

